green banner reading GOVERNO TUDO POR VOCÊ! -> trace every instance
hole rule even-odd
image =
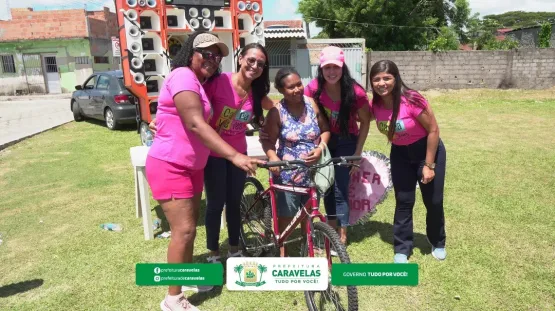
[[[408,264],[332,264],[331,284],[346,285],[418,285],[418,265]]]

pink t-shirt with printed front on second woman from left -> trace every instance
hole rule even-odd
[[[230,72],[222,73],[205,83],[204,90],[214,109],[210,125],[216,131],[219,130],[222,139],[235,150],[247,152],[245,131],[253,116],[252,93],[249,93],[243,103],[243,98],[233,88]],[[220,157],[215,152],[210,155]]]

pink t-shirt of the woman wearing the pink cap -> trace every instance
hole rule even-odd
[[[313,79],[310,83],[304,88],[304,95],[308,97],[314,98],[314,94],[318,90],[318,80]],[[357,124],[357,111],[364,107],[364,105],[368,106],[368,95],[366,95],[366,91],[360,87],[358,84],[355,84],[355,96],[356,96],[356,103],[355,109],[352,111],[352,115],[349,118],[349,133],[358,135],[358,124]],[[341,107],[341,101],[334,102],[326,93],[326,91],[322,91],[320,94],[320,102],[326,109],[326,114],[330,120],[330,130],[332,133],[341,133],[341,129],[339,128],[339,108]]]

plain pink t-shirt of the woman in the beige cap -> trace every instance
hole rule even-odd
[[[191,170],[200,170],[206,166],[210,150],[185,128],[179,117],[173,98],[183,91],[199,95],[204,119],[209,122],[212,108],[197,76],[188,67],[174,69],[164,80],[158,97],[157,132],[148,155]]]

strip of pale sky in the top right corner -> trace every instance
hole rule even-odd
[[[480,13],[480,16],[510,11],[555,12],[555,1],[553,0],[468,0],[468,3],[472,13]]]

